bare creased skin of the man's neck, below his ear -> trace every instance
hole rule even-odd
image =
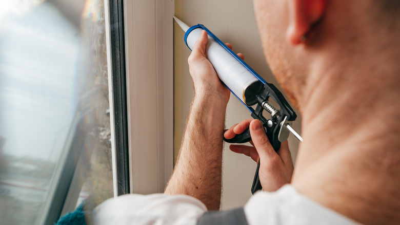
[[[358,222],[398,222],[400,79],[393,72],[400,70],[357,59],[343,65],[315,71],[324,76],[303,99],[304,143],[292,183]]]

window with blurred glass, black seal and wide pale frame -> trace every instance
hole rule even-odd
[[[0,3],[2,222],[53,224],[83,201],[91,210],[163,192],[172,12],[172,1],[156,0]]]

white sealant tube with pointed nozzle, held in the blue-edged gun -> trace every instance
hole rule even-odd
[[[197,41],[202,30],[206,28],[200,24],[189,28],[189,26],[178,20],[175,16],[174,18],[179,26],[186,31],[185,43],[190,49],[193,49],[194,43]],[[209,34],[206,57],[214,66],[219,79],[246,105],[251,106],[257,103],[255,96],[261,90],[263,83],[254,75],[254,71],[250,71],[244,65],[244,62],[239,60],[223,43],[217,42],[215,40],[216,37],[211,36],[213,34],[210,31],[207,30],[207,32]]]

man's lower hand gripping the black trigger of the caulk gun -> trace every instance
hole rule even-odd
[[[250,143],[253,146],[231,144],[229,149],[232,152],[249,156],[255,162],[261,160],[258,176],[263,190],[267,192],[276,191],[283,185],[290,183],[292,179],[293,162],[288,141],[283,142],[281,148],[275,152],[265,134],[263,124],[259,120],[253,119],[247,119],[233,125],[226,130],[224,137],[232,139],[249,127],[252,139]]]

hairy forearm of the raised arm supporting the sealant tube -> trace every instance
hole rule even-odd
[[[218,210],[226,103],[215,96],[194,97],[175,170],[166,194],[185,194]]]

